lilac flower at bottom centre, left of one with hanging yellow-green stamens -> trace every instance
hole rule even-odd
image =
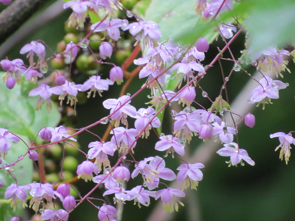
[[[144,189],[141,185],[132,188],[131,190],[125,191],[130,199],[134,199],[134,203],[138,202],[138,207],[140,208],[140,204],[149,206],[150,205],[150,197],[155,197],[155,193]]]

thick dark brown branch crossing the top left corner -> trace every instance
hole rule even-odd
[[[49,0],[16,0],[0,13],[0,43]]]

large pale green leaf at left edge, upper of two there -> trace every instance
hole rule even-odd
[[[3,72],[0,72],[0,75]],[[24,135],[34,140],[42,126],[55,127],[60,121],[60,113],[53,103],[50,113],[45,104],[42,110],[35,110],[38,97],[28,97],[32,89],[30,83],[15,85],[12,90],[4,84],[0,86],[0,128]]]

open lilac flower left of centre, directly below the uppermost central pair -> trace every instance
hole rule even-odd
[[[138,131],[136,129],[126,129],[124,127],[117,127],[114,128],[110,132],[110,134],[114,134],[114,136],[112,136],[111,138],[111,142],[119,147],[120,152],[125,152],[130,147],[131,151],[133,152],[133,148],[136,146],[135,137],[138,135]]]

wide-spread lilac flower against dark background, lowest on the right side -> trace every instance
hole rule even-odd
[[[235,166],[239,163],[243,166],[242,160],[245,160],[251,166],[255,165],[255,162],[251,160],[247,151],[239,149],[237,143],[224,144],[224,147],[217,151],[220,156],[230,156],[229,166]]]

